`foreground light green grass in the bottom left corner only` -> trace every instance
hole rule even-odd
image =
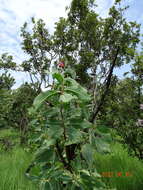
[[[32,155],[22,148],[15,148],[11,152],[0,156],[0,190],[36,190],[25,176]]]

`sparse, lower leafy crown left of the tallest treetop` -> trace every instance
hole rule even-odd
[[[53,60],[52,40],[42,19],[37,22],[32,18],[32,33],[29,32],[27,23],[21,28],[23,38],[22,49],[29,55],[29,59],[23,61],[21,68],[28,72],[35,89],[41,91],[41,85],[49,84],[49,71]]]

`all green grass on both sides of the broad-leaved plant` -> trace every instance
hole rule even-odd
[[[14,142],[18,141],[15,132],[0,131],[0,138],[7,136]],[[22,147],[16,146],[7,152],[1,150],[0,190],[38,190],[35,184],[24,176],[32,158],[33,155]],[[117,188],[117,190],[143,189],[143,163],[137,158],[129,156],[121,144],[113,144],[111,154],[96,154],[95,160],[97,171],[103,176],[102,179],[109,187]],[[126,176],[130,174],[132,176]]]

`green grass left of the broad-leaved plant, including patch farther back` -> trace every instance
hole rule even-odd
[[[19,135],[14,129],[1,129],[0,138],[7,138],[14,144],[19,143]],[[0,190],[36,190],[24,173],[33,156],[18,145],[4,151],[0,144]]]

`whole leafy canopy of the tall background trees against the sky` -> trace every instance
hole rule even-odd
[[[98,100],[114,68],[129,63],[139,43],[140,25],[127,22],[123,18],[126,7],[119,4],[116,1],[109,16],[103,19],[94,11],[94,0],[73,0],[68,17],[55,23],[53,35],[42,19],[32,18],[32,30],[27,23],[23,25],[22,49],[30,58],[21,64],[21,69],[29,73],[36,90],[40,92],[42,85],[50,84],[47,71],[51,65],[58,67],[59,61],[64,61],[66,69],[74,69],[75,79],[92,91],[93,104],[100,104]]]

